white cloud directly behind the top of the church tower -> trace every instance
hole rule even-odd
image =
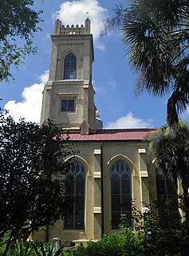
[[[89,14],[86,14],[88,13]],[[56,18],[59,18],[64,25],[84,24],[86,18],[91,20],[91,33],[93,34],[94,44],[96,48],[105,50],[103,43],[100,42],[100,32],[104,28],[104,18],[108,15],[108,10],[100,6],[97,0],[79,0],[66,1],[60,6]],[[54,15],[53,15],[54,16]]]

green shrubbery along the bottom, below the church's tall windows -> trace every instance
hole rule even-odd
[[[89,241],[87,246],[66,250],[66,256],[187,256],[189,228],[186,223],[179,227],[162,226],[156,209],[142,214],[133,213],[135,230],[123,223],[119,231],[104,235],[99,241]]]

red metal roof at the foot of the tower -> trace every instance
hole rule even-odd
[[[69,141],[136,141],[143,140],[158,129],[104,129],[97,130],[94,134],[81,135],[69,134]],[[64,136],[64,134],[62,134]],[[62,137],[63,137],[62,136]]]

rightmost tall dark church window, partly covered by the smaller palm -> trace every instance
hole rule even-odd
[[[179,209],[175,182],[156,171],[156,191],[160,222],[163,225],[177,225]]]

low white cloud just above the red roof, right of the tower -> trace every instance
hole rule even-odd
[[[152,127],[153,119],[141,119],[135,118],[132,112],[122,118],[116,120],[116,122],[108,122],[107,128],[145,128]]]

